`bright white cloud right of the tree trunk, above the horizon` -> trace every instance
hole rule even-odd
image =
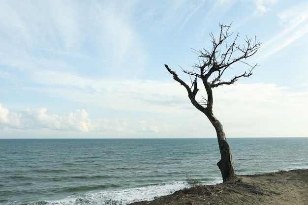
[[[274,84],[220,88],[214,112],[232,136],[306,136],[308,92]],[[216,106],[216,107],[215,107]]]

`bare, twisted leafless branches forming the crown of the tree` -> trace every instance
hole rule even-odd
[[[245,60],[248,57],[254,55],[261,46],[261,43],[256,40],[256,37],[253,41],[251,38],[250,39],[247,38],[247,36],[245,39],[245,43],[243,45],[237,44],[237,40],[239,40],[240,38],[239,33],[237,33],[235,38],[232,39],[231,44],[228,44],[227,39],[233,34],[233,32],[229,31],[231,24],[230,25],[221,24],[219,26],[220,26],[220,34],[217,39],[214,37],[213,33],[210,33],[210,36],[212,38],[211,52],[207,51],[206,49],[200,51],[192,49],[192,52],[197,54],[199,57],[199,64],[193,65],[192,66],[193,69],[191,71],[184,70],[182,68],[182,71],[188,74],[191,79],[191,84],[192,84],[191,87],[188,87],[188,85],[179,78],[176,72],[172,71],[168,67],[168,65],[165,64],[165,67],[167,68],[169,73],[173,75],[173,79],[186,88],[192,104],[199,110],[201,110],[200,104],[198,104],[197,101],[195,100],[195,96],[199,90],[197,87],[197,79],[202,80],[203,86],[207,92],[207,103],[206,103],[207,106],[204,107],[204,109],[207,109],[208,111],[211,112],[213,107],[212,88],[216,88],[222,85],[231,85],[242,77],[251,76],[252,70],[254,67],[257,66],[257,64],[251,66],[250,64],[245,62]],[[243,74],[235,75],[229,81],[223,80],[223,75],[225,71],[236,62],[245,63],[246,65],[251,67],[251,69],[248,69],[249,72],[244,72]],[[191,76],[194,76],[194,81],[192,81]],[[204,105],[205,103],[202,104]]]

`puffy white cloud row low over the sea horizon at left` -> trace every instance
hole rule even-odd
[[[141,120],[90,119],[84,109],[62,115],[47,114],[47,108],[27,108],[25,111],[10,113],[0,104],[0,129],[16,130],[58,130],[77,132],[161,132],[168,125],[154,118]]]

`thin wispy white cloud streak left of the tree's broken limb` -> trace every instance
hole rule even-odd
[[[147,111],[147,106],[140,105],[151,104],[157,112],[171,112],[164,105],[183,104],[176,96],[183,90],[174,82],[93,79],[51,70],[33,72],[31,79],[37,86],[27,86],[26,90],[115,110]]]

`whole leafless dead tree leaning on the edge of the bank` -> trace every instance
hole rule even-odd
[[[254,38],[247,38],[243,45],[237,44],[236,41],[239,39],[239,34],[235,36],[232,43],[229,44],[227,39],[233,34],[229,32],[230,26],[219,25],[220,35],[216,39],[213,33],[210,34],[213,44],[212,51],[207,50],[193,50],[199,57],[199,64],[192,66],[192,70],[182,71],[189,75],[191,80],[191,87],[189,87],[183,80],[181,80],[176,72],[171,70],[168,65],[165,67],[170,74],[173,75],[173,79],[183,85],[187,92],[191,103],[202,113],[204,113],[212,125],[215,127],[219,151],[221,154],[221,160],[217,163],[223,181],[231,180],[234,176],[233,160],[230,147],[226,141],[226,136],[223,131],[222,124],[213,114],[213,92],[212,89],[222,85],[234,84],[237,80],[242,77],[249,77],[252,75],[252,70],[257,64],[251,66],[246,63],[245,60],[248,57],[254,55],[260,48],[261,43]],[[236,75],[229,80],[223,79],[223,75],[227,69],[232,69],[231,66],[236,62],[245,63],[248,66],[248,70],[240,75]],[[191,78],[193,77],[193,78]],[[206,90],[206,97],[202,96],[201,102],[196,100],[196,94],[199,91],[198,82],[201,82]]]

